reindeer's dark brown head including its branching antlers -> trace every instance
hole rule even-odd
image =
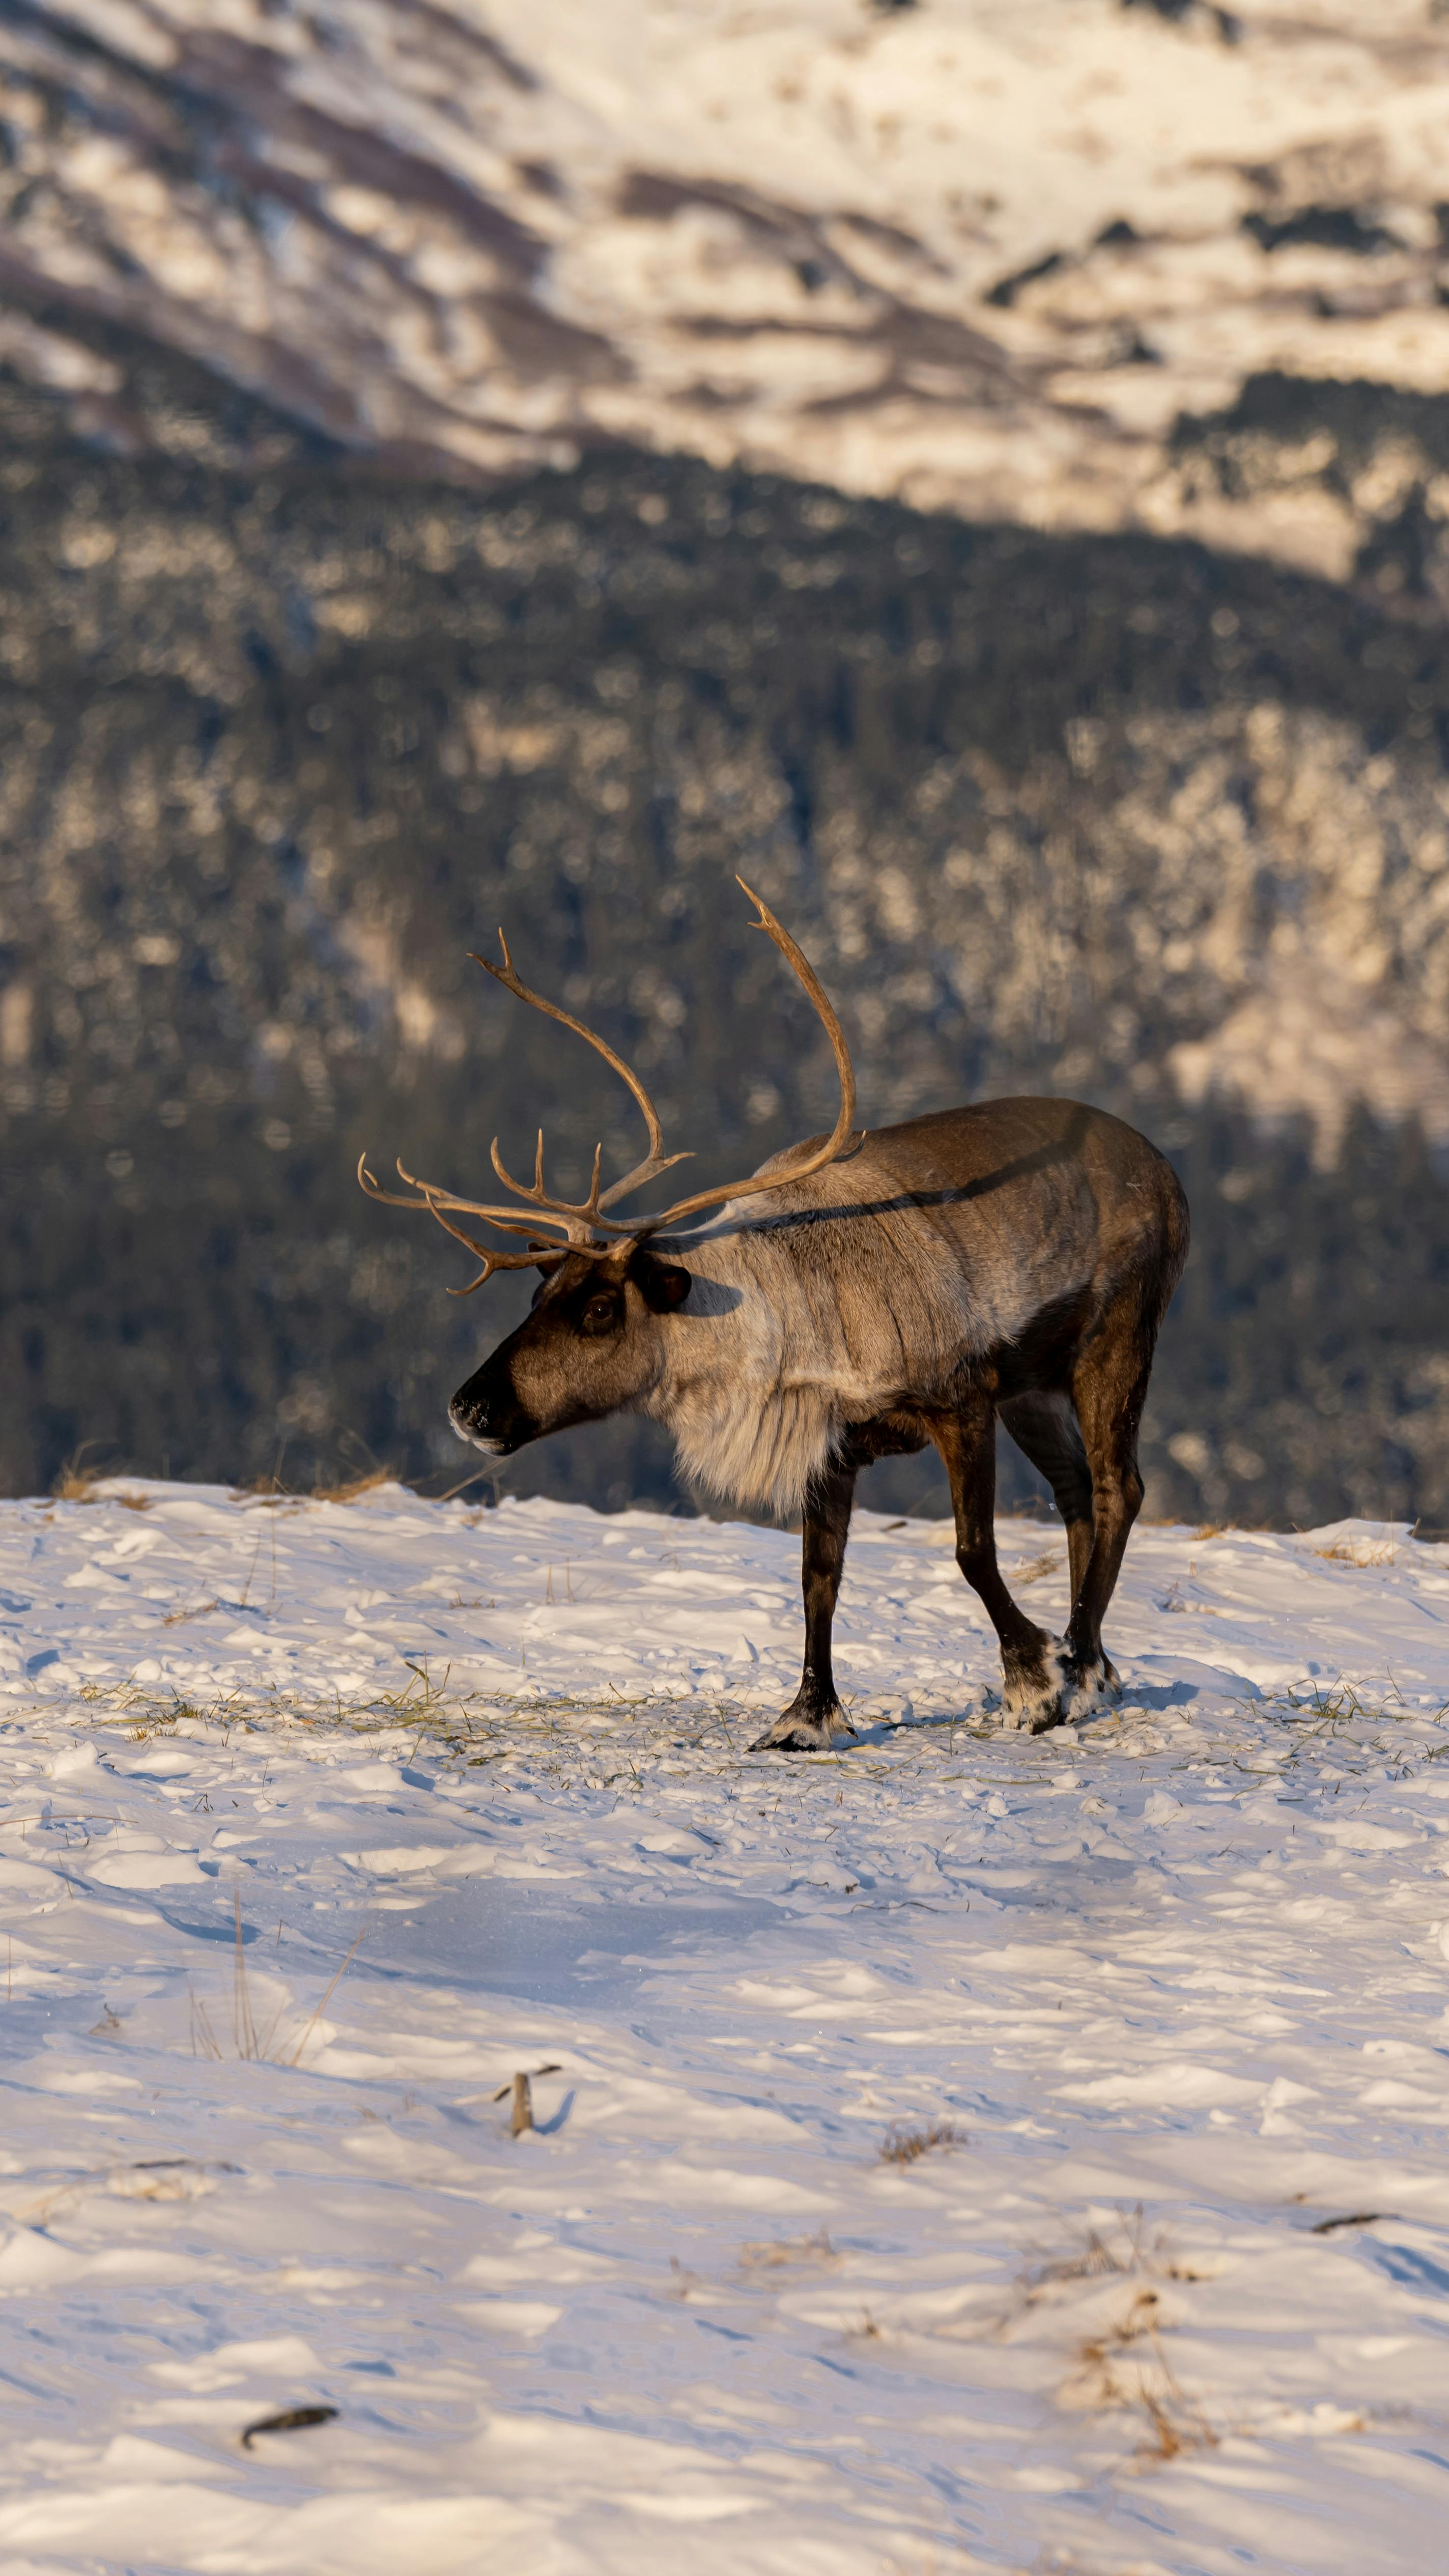
[[[744,878],[739,878],[744,886]],[[533,1311],[528,1319],[502,1342],[489,1360],[458,1388],[448,1406],[448,1419],[463,1440],[474,1440],[481,1450],[494,1458],[504,1458],[522,1448],[525,1440],[538,1440],[543,1432],[569,1430],[577,1422],[600,1422],[605,1414],[628,1412],[649,1404],[664,1370],[664,1329],[669,1316],[679,1314],[690,1301],[692,1275],[674,1260],[664,1260],[654,1252],[651,1236],[679,1226],[687,1216],[700,1216],[705,1208],[718,1208],[723,1200],[754,1198],[764,1190],[780,1190],[788,1182],[808,1180],[811,1172],[821,1172],[834,1162],[849,1144],[852,1118],[854,1118],[854,1072],[849,1064],[849,1051],[844,1043],[842,1025],[818,984],[813,969],[795,948],[788,930],[780,927],[770,904],[759,899],[749,886],[744,886],[749,902],[759,912],[757,927],[770,933],[780,953],[795,969],[800,984],[806,987],[811,1002],[816,1005],[826,1036],[834,1048],[839,1072],[839,1115],[821,1146],[785,1164],[777,1172],[757,1172],[749,1180],[718,1182],[713,1190],[697,1190],[692,1198],[674,1200],[659,1216],[615,1218],[607,1211],[641,1190],[646,1182],[659,1180],[677,1162],[687,1162],[687,1154],[664,1151],[664,1131],[659,1126],[659,1113],[643,1090],[638,1074],[615,1056],[613,1046],[582,1020],[574,1020],[556,1002],[546,1002],[517,979],[512,971],[512,958],[507,953],[507,940],[499,930],[502,966],[492,958],[476,958],[499,984],[504,984],[520,1002],[530,1002],[533,1010],[543,1010],[551,1020],[571,1028],[574,1036],[584,1038],[615,1074],[633,1092],[643,1123],[649,1128],[649,1154],[643,1162],[615,1180],[607,1190],[600,1190],[600,1159],[602,1146],[595,1146],[595,1170],[589,1182],[589,1195],[584,1200],[553,1198],[543,1185],[543,1131],[538,1133],[538,1151],[533,1159],[533,1182],[512,1180],[499,1157],[499,1141],[492,1141],[492,1167],[502,1180],[504,1190],[512,1193],[512,1203],[481,1203],[476,1198],[458,1198],[453,1190],[440,1188],[430,1180],[414,1180],[399,1162],[399,1177],[409,1185],[409,1198],[399,1193],[381,1190],[368,1172],[365,1157],[358,1162],[358,1180],[368,1198],[383,1200],[389,1208],[427,1208],[440,1226],[448,1229],[461,1244],[468,1244],[479,1255],[481,1270],[466,1288],[448,1291],[450,1296],[471,1296],[481,1288],[494,1270],[533,1270],[543,1273],[543,1283],[535,1291]],[[528,1211],[528,1213],[525,1213]],[[476,1234],[463,1231],[453,1224],[456,1216],[481,1216],[484,1224],[494,1226],[499,1234],[525,1236],[525,1252],[494,1252],[492,1244],[481,1244]],[[558,1239],[548,1242],[538,1229],[551,1229]]]

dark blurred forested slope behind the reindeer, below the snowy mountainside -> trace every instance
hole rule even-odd
[[[540,1118],[561,1182],[600,1131],[633,1159],[623,1095],[468,963],[499,920],[700,1177],[829,1121],[739,868],[839,997],[872,1123],[1048,1087],[1181,1162],[1150,1510],[1449,1520],[1428,613],[631,453],[497,495],[363,477],[144,366],[160,453],[0,384],[10,1489],[85,1440],[463,1476],[443,1404],[525,1291],[450,1306],[463,1255],[368,1208],[358,1151],[476,1185]],[[1284,1064],[1292,1012],[1349,1043],[1310,1025]],[[669,1471],[620,1425],[510,1486]]]

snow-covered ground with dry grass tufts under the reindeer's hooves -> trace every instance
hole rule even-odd
[[[860,1741],[749,1754],[795,1582],[0,1504],[3,2576],[1444,2566],[1449,1548],[1143,1530],[1024,1741],[865,1517]]]

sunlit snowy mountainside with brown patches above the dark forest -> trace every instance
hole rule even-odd
[[[1413,433],[1176,435],[1444,386],[1434,0],[5,0],[0,118],[0,348],[121,446],[98,322],[404,469],[623,440],[1338,577],[1444,520]]]

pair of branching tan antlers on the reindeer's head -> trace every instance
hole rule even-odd
[[[494,1275],[494,1270],[530,1270],[538,1262],[538,1255],[551,1249],[561,1252],[564,1247],[569,1247],[569,1252],[582,1252],[584,1260],[602,1260],[605,1255],[615,1252],[620,1242],[641,1242],[649,1234],[661,1234],[664,1226],[677,1226],[685,1216],[697,1216],[703,1208],[718,1208],[728,1198],[754,1198],[764,1190],[782,1190],[793,1180],[808,1180],[811,1172],[821,1172],[829,1162],[836,1162],[836,1157],[844,1151],[854,1121],[854,1072],[849,1061],[849,1048],[844,1043],[844,1030],[829,1005],[829,997],[813,966],[800,953],[790,933],[775,920],[770,904],[754,891],[754,886],[744,884],[744,876],[739,876],[736,884],[744,886],[749,902],[759,912],[754,927],[770,933],[780,956],[793,966],[811,1002],[816,1005],[821,1025],[831,1041],[839,1074],[839,1113],[826,1141],[816,1146],[816,1151],[808,1154],[803,1162],[793,1162],[782,1172],[757,1172],[752,1180],[718,1182],[713,1190],[697,1190],[692,1198],[674,1200],[674,1206],[664,1208],[659,1216],[638,1216],[638,1218],[607,1216],[605,1211],[613,1208],[620,1198],[628,1198],[633,1190],[641,1190],[643,1182],[649,1180],[659,1180],[659,1175],[674,1170],[677,1162],[690,1162],[690,1157],[664,1151],[664,1128],[659,1126],[659,1110],[654,1108],[649,1092],[643,1090],[643,1082],[623,1061],[623,1056],[615,1056],[613,1046],[607,1046],[597,1036],[597,1030],[587,1028],[584,1020],[574,1020],[571,1012],[558,1010],[556,1002],[548,1002],[540,992],[530,992],[530,987],[520,981],[520,976],[512,971],[507,940],[499,930],[502,966],[494,966],[492,958],[481,958],[474,951],[468,951],[474,956],[474,963],[484,966],[486,974],[492,974],[497,984],[504,984],[507,992],[517,994],[520,1002],[530,1002],[533,1010],[546,1012],[548,1020],[558,1020],[564,1028],[571,1028],[577,1038],[584,1038],[584,1043],[592,1046],[595,1054],[600,1054],[605,1064],[613,1066],[613,1072],[620,1077],[620,1082],[628,1084],[643,1113],[643,1123],[649,1128],[649,1154],[643,1157],[643,1162],[636,1162],[633,1172],[625,1172],[623,1180],[615,1180],[607,1190],[600,1193],[602,1146],[595,1146],[589,1195],[574,1200],[574,1198],[553,1198],[543,1188],[543,1128],[538,1131],[538,1149],[533,1157],[530,1185],[515,1180],[507,1172],[499,1154],[499,1141],[494,1136],[489,1149],[492,1167],[502,1180],[504,1190],[512,1193],[512,1206],[489,1206],[476,1198],[458,1198],[456,1190],[443,1190],[432,1180],[414,1180],[414,1175],[407,1172],[401,1162],[396,1167],[399,1177],[409,1185],[414,1195],[399,1198],[396,1190],[383,1190],[376,1182],[373,1172],[368,1172],[368,1159],[363,1154],[358,1162],[358,1182],[368,1193],[368,1198],[381,1200],[386,1208],[427,1208],[427,1213],[435,1216],[438,1224],[445,1226],[445,1231],[453,1234],[456,1242],[466,1244],[468,1252],[476,1252],[479,1260],[484,1262],[479,1278],[468,1280],[466,1288],[448,1291],[450,1296],[471,1296],[474,1288],[481,1288],[484,1280]],[[533,1216],[533,1224],[520,1224],[517,1203],[538,1211]],[[533,1236],[535,1226],[553,1226],[564,1242],[548,1244],[533,1239],[528,1252],[489,1252],[489,1247],[479,1244],[474,1234],[463,1231],[463,1226],[448,1224],[450,1216],[481,1216],[484,1224],[497,1226],[499,1234],[522,1234],[525,1239]],[[602,1242],[600,1234],[605,1236]]]

